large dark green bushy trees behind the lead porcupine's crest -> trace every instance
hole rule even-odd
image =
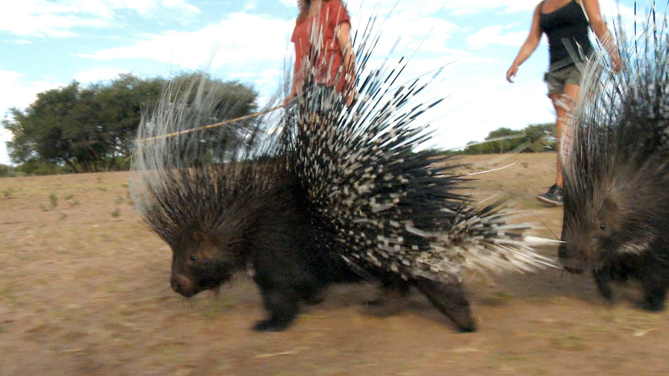
[[[0,165],[0,176],[50,175],[126,170],[142,114],[150,114],[170,82],[183,92],[201,72],[167,80],[121,74],[110,82],[82,87],[78,82],[37,94],[21,110],[12,108],[2,121],[13,139],[7,151],[17,167]],[[219,91],[219,111],[211,122],[256,110],[253,88],[205,75],[205,85]]]

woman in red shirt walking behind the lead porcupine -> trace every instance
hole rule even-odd
[[[290,96],[292,100],[305,76],[334,88],[347,98],[355,98],[355,56],[351,49],[351,18],[341,0],[299,0],[298,15],[290,41],[295,43],[295,66]],[[313,74],[305,74],[313,69]]]

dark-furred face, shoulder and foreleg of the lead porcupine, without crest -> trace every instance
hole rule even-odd
[[[189,239],[171,245],[175,292],[190,297],[215,289],[250,263],[270,315],[255,328],[278,331],[294,320],[300,301],[314,304],[328,284],[359,280],[343,260],[332,260],[317,246],[294,187],[280,185],[262,203],[246,208],[244,216],[243,223],[224,223],[209,233],[193,231]]]

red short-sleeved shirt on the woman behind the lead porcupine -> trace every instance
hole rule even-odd
[[[315,21],[315,22],[314,22]],[[306,17],[296,23],[290,41],[295,43],[295,88],[302,86],[303,66],[314,64],[316,82],[334,86],[334,79],[339,74],[337,91],[343,92],[345,78],[342,69],[343,54],[334,29],[342,23],[351,23],[349,12],[340,0],[323,1],[320,15]],[[320,43],[318,42],[320,39]],[[313,48],[313,50],[312,50]],[[310,60],[310,51],[315,59]]]

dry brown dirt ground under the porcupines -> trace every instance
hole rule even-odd
[[[535,195],[554,154],[468,157],[474,183],[559,235]],[[0,179],[0,375],[662,375],[669,313],[605,304],[589,276],[545,270],[468,284],[479,330],[456,333],[418,294],[397,316],[365,315],[367,285],[332,288],[284,333],[247,276],[219,296],[169,288],[170,250],[129,202],[127,173]],[[544,250],[555,256],[554,248]]]

